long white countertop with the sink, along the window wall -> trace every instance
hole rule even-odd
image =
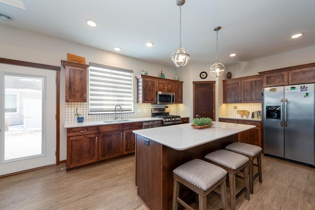
[[[113,121],[113,120],[104,120],[104,121],[83,121],[83,122],[73,122],[64,124],[65,128],[73,127],[86,127],[86,126],[98,126],[98,125],[109,125],[109,124],[120,124],[120,123],[130,123],[130,122],[145,122],[145,121],[154,121],[162,120],[161,118],[139,118],[139,119],[129,119],[129,121]]]

